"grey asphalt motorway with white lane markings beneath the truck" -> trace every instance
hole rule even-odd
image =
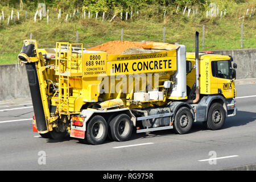
[[[0,104],[0,170],[212,170],[256,163],[256,84],[236,88],[238,113],[222,130],[193,123],[185,135],[134,133],[127,142],[98,146],[33,133],[30,100]]]

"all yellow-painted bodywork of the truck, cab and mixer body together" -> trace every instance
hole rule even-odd
[[[61,48],[64,45],[67,49]],[[94,109],[93,106],[97,107],[97,105],[100,107],[99,104],[104,101],[109,101],[103,104],[105,109],[108,109],[108,104],[115,106],[116,100],[118,101],[118,107],[133,109],[163,106],[170,101],[187,99],[187,97],[170,96],[170,92],[165,90],[163,100],[133,101],[134,92],[148,91],[147,79],[152,78],[150,83],[152,89],[161,91],[164,81],[170,80],[171,76],[175,74],[177,70],[177,45],[152,43],[150,48],[162,50],[160,52],[133,55],[107,55],[106,52],[83,49],[72,51],[72,48],[77,45],[82,47],[82,44],[56,43],[55,58],[43,58],[42,55],[48,54],[51,51],[50,49],[38,49],[37,57],[30,58],[31,61],[38,61],[36,68],[38,69],[46,119],[49,123],[52,123],[52,125],[48,123],[48,131],[51,131],[52,127],[55,126],[53,121],[56,119],[56,115],[70,117],[72,114],[79,114],[82,108]],[[168,49],[164,50],[164,47],[168,47]],[[225,98],[234,97],[233,81],[212,76],[211,62],[229,59],[229,56],[200,54],[200,94],[219,94],[221,89]],[[191,61],[193,67],[195,53],[187,53],[187,61]],[[49,66],[46,67],[45,65]],[[142,77],[139,77],[138,80],[131,77],[131,75],[136,74],[146,75],[146,80],[143,80]],[[192,88],[195,82],[195,75],[195,69],[187,75],[189,88]],[[49,88],[52,82],[47,80],[55,82],[59,90],[55,93],[50,92]],[[126,82],[123,82],[125,80]],[[231,86],[226,88],[224,85]],[[106,88],[109,88],[110,92],[105,92],[104,89]],[[54,113],[49,112],[48,101],[52,106],[56,106]]]

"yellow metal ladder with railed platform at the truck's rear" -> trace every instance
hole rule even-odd
[[[74,51],[72,47],[80,46],[81,51]],[[81,54],[80,59],[82,60],[82,44],[70,44],[67,42],[56,43],[56,70],[55,74],[59,75],[59,115],[67,115],[68,118],[71,114],[77,114],[71,111],[75,107],[74,103],[70,103],[71,93],[69,92],[71,86],[69,84],[70,77],[81,76],[81,73],[72,72],[72,61],[77,60],[77,53]]]

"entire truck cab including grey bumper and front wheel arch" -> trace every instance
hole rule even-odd
[[[188,52],[187,61],[187,94],[188,99],[195,98],[195,53]],[[218,102],[225,110],[226,117],[236,115],[236,80],[237,64],[233,63],[233,57],[226,55],[214,55],[213,53],[199,53],[199,80],[200,100],[198,106],[204,106],[205,117],[197,117],[195,121],[207,121],[207,115],[211,103]],[[195,114],[196,115],[196,114]],[[217,116],[216,116],[217,117]]]

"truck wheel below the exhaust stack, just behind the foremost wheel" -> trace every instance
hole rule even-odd
[[[174,131],[177,134],[188,133],[192,127],[193,115],[188,107],[180,107],[175,115]]]

